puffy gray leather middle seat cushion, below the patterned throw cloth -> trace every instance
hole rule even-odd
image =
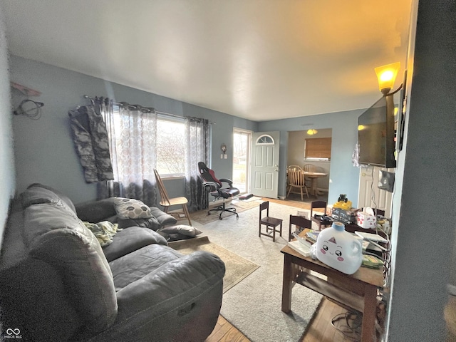
[[[164,237],[150,229],[129,227],[115,234],[113,243],[103,247],[103,252],[108,261],[113,261],[149,244],[167,245],[167,242]]]

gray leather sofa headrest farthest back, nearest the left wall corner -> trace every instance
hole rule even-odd
[[[21,194],[21,204],[23,209],[26,209],[26,207],[29,207],[32,204],[57,203],[58,201],[63,201],[63,203],[73,210],[73,212],[76,212],[71,199],[47,185],[33,183],[32,185],[29,185],[27,190]]]

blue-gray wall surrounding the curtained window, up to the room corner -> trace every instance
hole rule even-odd
[[[233,127],[257,129],[257,123],[249,120],[18,56],[11,56],[10,67],[11,80],[40,91],[41,96],[36,100],[44,103],[39,120],[24,116],[15,116],[13,120],[18,193],[33,182],[42,182],[66,193],[74,202],[95,199],[96,187],[83,179],[68,125],[68,110],[88,104],[83,95],[108,96],[117,101],[154,107],[165,113],[207,118],[214,122],[212,168],[217,170],[219,177],[232,177],[232,159],[220,160],[217,156],[222,143],[227,145],[228,151],[233,150]],[[14,94],[13,103],[17,105],[22,99],[20,94]],[[184,193],[182,179],[167,181],[166,186],[172,197]]]

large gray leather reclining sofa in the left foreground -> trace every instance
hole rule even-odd
[[[65,195],[38,184],[21,195],[0,254],[6,338],[136,342],[209,336],[222,305],[223,261],[208,252],[183,256],[162,235],[138,226],[124,227],[101,247],[83,221],[114,221],[113,200],[76,209]]]

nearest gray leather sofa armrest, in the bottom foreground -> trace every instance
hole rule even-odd
[[[222,305],[224,263],[194,252],[118,291],[118,316],[96,341],[204,341]]]

